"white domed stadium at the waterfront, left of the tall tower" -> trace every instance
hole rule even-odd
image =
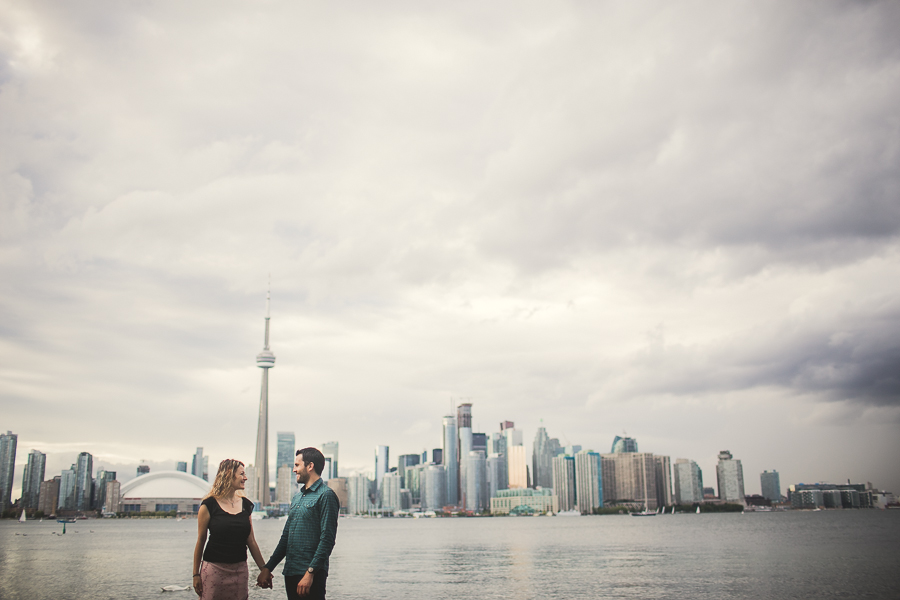
[[[111,483],[114,482],[107,482],[107,494]],[[209,482],[205,479],[181,471],[156,471],[121,485],[113,492],[119,497],[119,510],[113,511],[112,503],[107,501],[107,512],[197,514],[208,492]]]

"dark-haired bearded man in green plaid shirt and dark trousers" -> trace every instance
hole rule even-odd
[[[288,600],[324,600],[328,578],[328,557],[334,548],[340,502],[322,480],[325,456],[315,448],[297,450],[294,473],[300,492],[291,500],[291,511],[281,540],[256,580],[260,587],[272,587],[272,569],[284,563],[284,588]]]

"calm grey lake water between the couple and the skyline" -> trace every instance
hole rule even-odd
[[[254,525],[267,559],[283,526]],[[196,521],[66,527],[0,522],[0,598],[159,598],[190,583]],[[250,597],[284,598],[276,573],[275,590]],[[328,596],[895,599],[900,511],[341,519]]]

